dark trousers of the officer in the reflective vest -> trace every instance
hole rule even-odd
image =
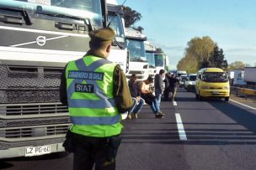
[[[73,134],[74,170],[91,170],[95,163],[95,170],[114,170],[115,157],[109,158],[109,138],[84,137]],[[116,148],[117,152],[117,148]]]

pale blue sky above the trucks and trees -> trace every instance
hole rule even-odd
[[[122,4],[125,0],[118,0]],[[190,39],[210,36],[230,64],[256,64],[256,0],[127,0],[141,13],[136,26],[176,68]]]

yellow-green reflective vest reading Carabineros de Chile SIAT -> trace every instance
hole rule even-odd
[[[88,55],[67,64],[67,104],[71,131],[87,137],[120,134],[120,113],[113,96],[115,63]]]

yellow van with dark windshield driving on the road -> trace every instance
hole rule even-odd
[[[205,68],[198,71],[195,80],[195,97],[201,100],[204,97],[224,98],[229,100],[228,75],[219,68]]]

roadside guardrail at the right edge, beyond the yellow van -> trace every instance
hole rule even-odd
[[[253,89],[246,89],[246,88],[231,86],[230,93],[238,97],[245,97],[246,100],[248,98],[256,99],[256,90],[253,90]]]

